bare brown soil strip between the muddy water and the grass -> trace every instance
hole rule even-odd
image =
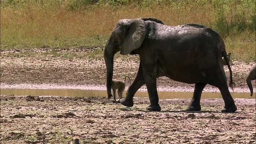
[[[46,52],[52,51],[54,48],[42,48],[41,50],[32,49],[30,55],[36,54],[36,57],[7,57],[7,54],[14,53],[16,55],[23,53],[26,50],[5,50],[1,52],[1,64],[0,64],[0,81],[3,84],[58,84],[58,85],[99,85],[103,86],[106,80],[106,66],[103,58],[74,58],[64,59],[60,57],[54,57],[51,55],[44,56]],[[78,48],[60,50],[55,48],[56,52],[74,52],[78,55],[86,55],[86,52],[90,50],[98,49],[93,48]],[[136,76],[139,67],[138,56],[131,55],[127,59],[115,58],[114,59],[114,79],[123,79],[124,76],[129,76],[133,80]],[[233,80],[236,88],[244,88],[249,92],[246,84],[246,75],[248,74],[252,64],[254,62],[238,62],[233,61],[232,66]],[[224,66],[227,80],[229,82],[228,67]],[[182,87],[186,90],[191,88],[193,90],[194,84],[185,84],[170,80],[167,77],[158,78],[158,89],[165,89]],[[255,88],[255,81],[252,82]],[[50,85],[48,85],[51,88]],[[105,87],[105,86],[103,86]],[[10,87],[12,88],[12,87]],[[52,86],[52,88],[54,88]],[[145,87],[144,87],[145,88]],[[207,85],[207,88],[214,88]],[[167,90],[169,91],[169,90]],[[235,91],[236,92],[236,91]],[[240,92],[239,90],[237,92]],[[244,92],[244,91],[242,91]]]

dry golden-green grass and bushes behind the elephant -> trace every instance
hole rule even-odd
[[[200,23],[219,32],[232,58],[255,61],[255,0],[0,0],[1,51],[104,46],[122,18]]]

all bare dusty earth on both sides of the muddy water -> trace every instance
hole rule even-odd
[[[1,51],[0,87],[106,90],[103,57],[87,54],[95,49],[100,48]],[[71,53],[81,58],[62,57]],[[234,60],[233,63],[234,92],[249,92],[245,79],[254,62]],[[114,78],[130,76],[133,80],[138,66],[138,56],[115,58]],[[228,68],[224,66],[224,69],[229,81]],[[252,83],[255,91],[255,81]],[[158,78],[160,91],[193,91],[193,88],[194,84]],[[146,91],[145,86],[140,91]],[[210,85],[204,91],[219,92]],[[90,144],[256,143],[255,98],[236,98],[235,113],[220,113],[224,106],[222,99],[202,99],[200,112],[184,111],[190,99],[161,100],[161,112],[148,112],[145,108],[149,100],[141,98],[134,98],[132,108],[97,97],[0,98],[1,144],[68,144],[72,135]]]

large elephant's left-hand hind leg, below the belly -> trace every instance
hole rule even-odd
[[[201,110],[200,106],[200,99],[201,99],[201,94],[202,91],[204,90],[204,87],[206,86],[206,83],[196,83],[195,84],[195,89],[193,93],[193,97],[190,101],[190,104],[186,108],[188,111],[198,111]]]

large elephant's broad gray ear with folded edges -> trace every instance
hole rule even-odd
[[[129,54],[132,50],[139,48],[146,34],[146,23],[144,20],[132,19],[127,22],[129,28],[122,43],[120,54]]]

